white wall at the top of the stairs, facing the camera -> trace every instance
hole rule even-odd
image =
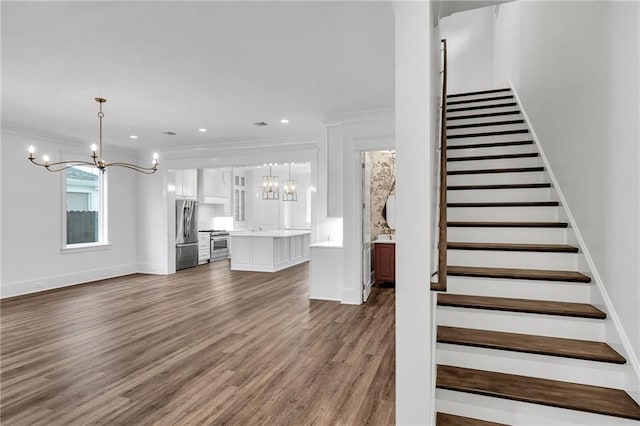
[[[454,13],[440,21],[447,39],[449,93],[493,87],[493,18],[495,7]]]

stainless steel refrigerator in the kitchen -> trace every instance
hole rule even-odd
[[[198,266],[198,203],[176,200],[176,270]]]

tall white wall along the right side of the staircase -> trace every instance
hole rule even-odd
[[[503,5],[496,21],[496,46],[508,51],[496,54],[496,75],[511,78],[520,94],[636,357],[638,9],[638,2],[521,2]],[[518,45],[506,40],[514,36]]]

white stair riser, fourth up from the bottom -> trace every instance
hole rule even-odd
[[[472,296],[589,303],[590,284],[448,276],[447,292]]]

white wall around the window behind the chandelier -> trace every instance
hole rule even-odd
[[[27,147],[52,159],[63,151],[89,159],[89,149],[2,134],[2,297],[136,272],[137,180],[127,169],[108,170],[111,246],[79,252],[62,248],[62,173],[27,161]],[[105,147],[110,161],[135,162],[132,154]]]

